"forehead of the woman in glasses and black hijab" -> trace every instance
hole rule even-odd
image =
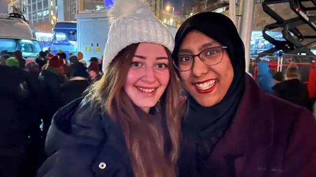
[[[190,50],[200,50],[202,48],[218,46],[220,45],[219,42],[212,39],[211,37],[204,35],[203,33],[193,30],[189,32],[180,45],[180,51],[182,49],[190,49]],[[179,52],[180,52],[179,51]]]

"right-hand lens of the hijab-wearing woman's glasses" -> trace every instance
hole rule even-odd
[[[223,49],[221,47],[212,47],[204,50],[200,58],[205,65],[213,66],[219,64],[223,59]]]

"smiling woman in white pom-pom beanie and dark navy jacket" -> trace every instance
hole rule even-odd
[[[55,114],[38,177],[176,177],[174,39],[142,0],[115,1],[109,21],[106,74]]]

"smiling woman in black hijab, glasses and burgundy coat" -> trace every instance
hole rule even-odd
[[[179,177],[316,177],[313,115],[246,74],[244,45],[228,17],[194,15],[175,41],[187,92]]]

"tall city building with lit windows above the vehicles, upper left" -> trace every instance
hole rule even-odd
[[[51,32],[58,21],[56,0],[14,0],[16,8],[24,10],[24,16],[31,28],[37,32]],[[12,4],[8,4],[8,12],[12,12]]]

